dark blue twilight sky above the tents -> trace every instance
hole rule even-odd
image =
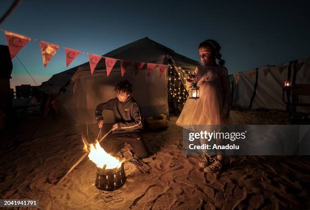
[[[13,3],[0,2],[0,15]],[[198,60],[198,45],[215,39],[229,74],[310,55],[309,1],[40,1],[23,0],[0,28],[98,55],[149,37]],[[6,45],[0,31],[0,44]],[[64,71],[64,49],[44,68],[40,44],[18,54],[40,85]],[[70,67],[87,62],[81,54]],[[33,84],[13,59],[11,86]]]

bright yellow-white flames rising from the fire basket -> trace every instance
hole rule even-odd
[[[82,137],[82,140],[84,143],[84,150],[89,151],[88,157],[97,167],[103,168],[104,165],[106,165],[106,169],[121,167],[122,162],[106,153],[97,140],[95,144],[88,144],[84,137]]]

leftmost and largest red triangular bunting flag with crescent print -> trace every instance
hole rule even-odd
[[[18,33],[5,31],[8,47],[10,50],[11,59],[30,41],[31,38],[25,37]]]

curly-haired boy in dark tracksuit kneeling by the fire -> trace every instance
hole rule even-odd
[[[100,103],[95,111],[99,128],[104,123],[103,110],[112,110],[116,122],[112,126],[112,135],[103,141],[102,147],[105,152],[115,156],[127,142],[132,146],[137,157],[146,158],[148,151],[139,131],[143,127],[141,112],[139,104],[132,97],[132,85],[127,80],[121,81],[115,85],[115,91],[117,97]]]

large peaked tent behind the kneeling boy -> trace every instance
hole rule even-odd
[[[57,100],[62,110],[78,124],[95,123],[94,113],[97,104],[116,97],[114,85],[128,80],[134,87],[134,98],[140,104],[143,117],[156,117],[168,113],[168,76],[167,71],[160,78],[159,68],[151,70],[147,76],[146,64],[135,75],[133,62],[173,64],[193,71],[199,62],[180,55],[149,38],[143,38],[112,50],[105,57],[132,61],[124,77],[121,75],[120,61],[107,77],[105,60],[101,59],[92,75],[89,62],[53,75],[41,85],[41,89],[50,94],[60,91]],[[104,111],[106,122],[113,122],[110,111]]]

